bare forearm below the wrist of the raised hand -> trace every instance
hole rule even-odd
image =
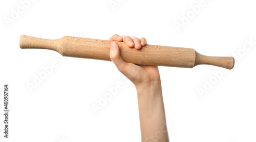
[[[161,81],[136,87],[142,141],[169,141]]]

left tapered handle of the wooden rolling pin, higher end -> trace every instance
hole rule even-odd
[[[57,40],[48,40],[30,37],[26,35],[20,36],[19,47],[22,49],[50,49],[59,52],[62,54],[62,49],[60,48],[60,39]]]

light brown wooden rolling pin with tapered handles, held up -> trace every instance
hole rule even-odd
[[[109,55],[111,42],[113,41],[69,36],[48,40],[22,35],[20,36],[19,46],[22,49],[55,50],[63,56],[111,61]],[[120,47],[122,59],[129,63],[183,68],[193,68],[201,64],[214,65],[226,69],[232,69],[234,66],[232,57],[205,56],[191,48],[147,44],[137,50],[127,47],[124,42],[114,42]]]

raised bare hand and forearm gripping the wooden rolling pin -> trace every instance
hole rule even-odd
[[[109,40],[124,42],[128,47],[138,50],[147,44],[145,38],[117,34]],[[120,49],[115,42],[111,43],[110,59],[136,87],[141,141],[169,141],[158,67],[126,63],[121,58]]]

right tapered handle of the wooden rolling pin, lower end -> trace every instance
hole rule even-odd
[[[196,51],[197,65],[213,65],[231,70],[234,67],[234,58],[231,56],[206,56]]]

